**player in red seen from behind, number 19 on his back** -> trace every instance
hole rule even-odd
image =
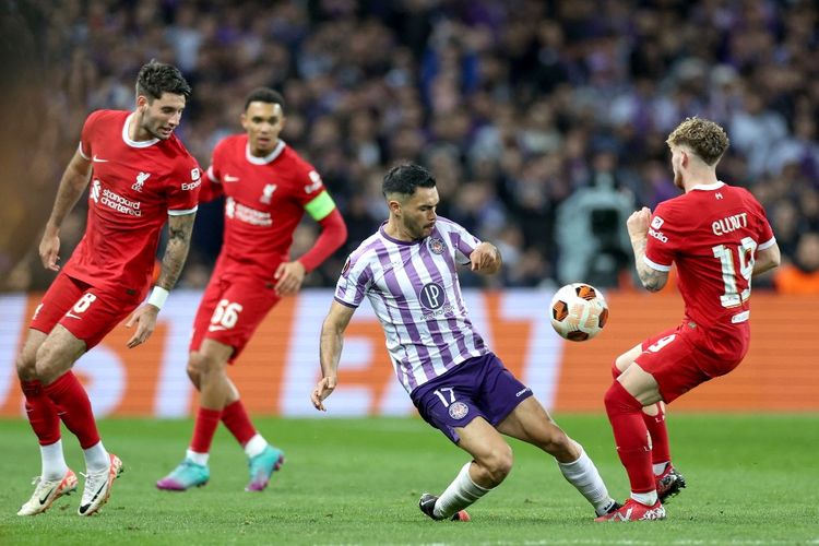
[[[666,142],[684,194],[660,203],[653,215],[646,207],[634,212],[627,226],[648,290],[662,289],[677,264],[685,316],[615,361],[604,400],[631,497],[597,521],[665,518],[663,500],[685,480],[670,464],[664,403],[739,365],[750,340],[751,277],[780,263],[762,205],[716,178],[728,149],[723,128],[689,118]]]

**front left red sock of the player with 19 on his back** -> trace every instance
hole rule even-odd
[[[604,397],[612,423],[617,455],[626,467],[632,492],[656,489],[651,467],[651,441],[642,417],[642,404],[615,381]]]

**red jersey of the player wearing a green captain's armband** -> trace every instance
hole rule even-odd
[[[313,166],[281,140],[256,157],[247,134],[227,136],[216,144],[203,183],[203,194],[226,195],[219,264],[228,274],[273,280],[278,264],[289,261],[304,213],[320,221],[335,209]]]

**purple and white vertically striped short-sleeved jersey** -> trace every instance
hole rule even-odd
[[[470,263],[480,240],[441,216],[419,241],[393,239],[384,225],[349,254],[335,300],[357,308],[369,298],[395,376],[412,392],[489,352],[467,317],[455,271],[459,263]]]

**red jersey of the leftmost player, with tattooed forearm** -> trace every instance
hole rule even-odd
[[[97,110],[85,120],[80,153],[92,162],[88,221],[66,274],[143,299],[168,215],[197,211],[202,173],[176,135],[135,142],[132,112]]]

